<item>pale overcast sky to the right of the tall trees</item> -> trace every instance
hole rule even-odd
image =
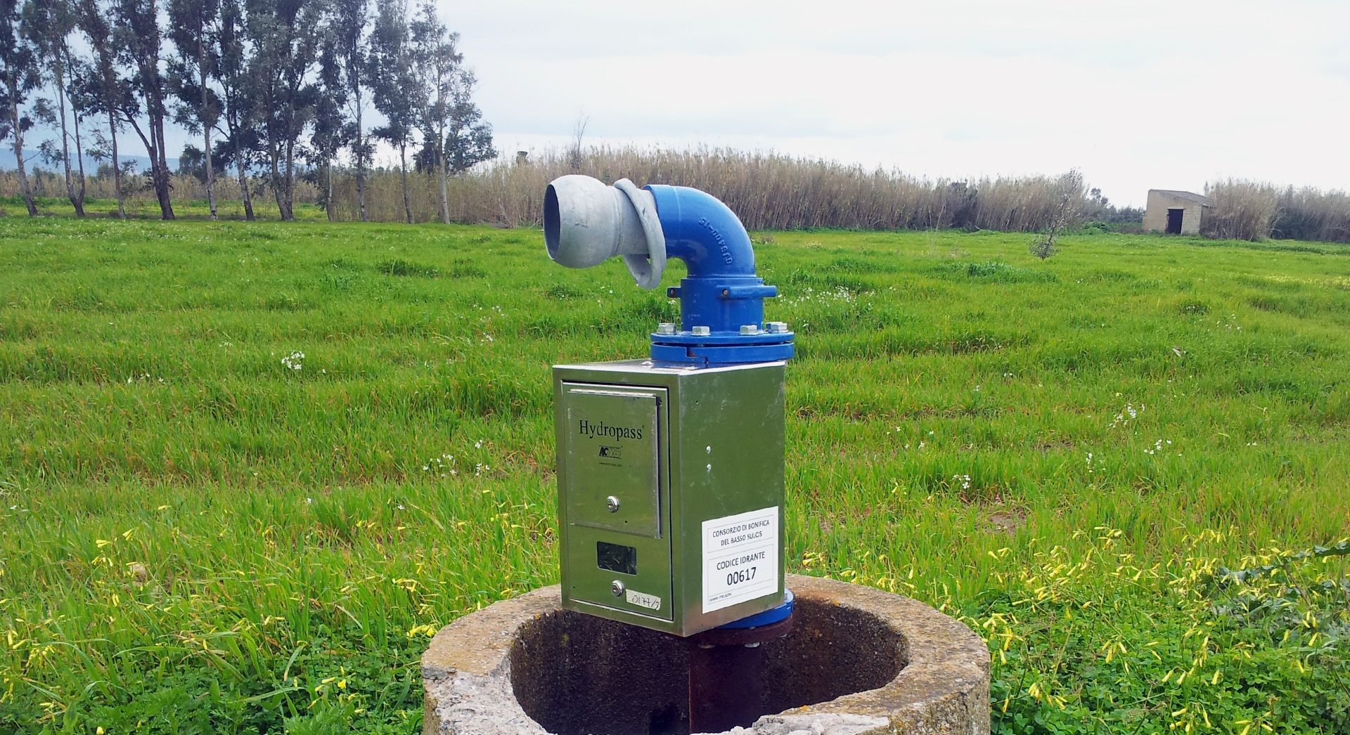
[[[1350,189],[1350,1],[439,0],[502,151],[694,144],[923,177]]]

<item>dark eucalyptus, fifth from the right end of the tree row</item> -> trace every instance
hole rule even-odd
[[[320,94],[313,71],[325,20],[321,0],[247,0],[252,46],[250,90],[261,116],[270,181],[282,220],[294,220],[300,136],[313,120]]]

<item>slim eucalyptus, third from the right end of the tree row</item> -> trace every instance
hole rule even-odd
[[[366,169],[370,166],[373,147],[366,136],[364,112],[370,80],[370,0],[332,0],[332,26],[329,31],[329,63],[335,65],[336,76],[332,84],[325,82],[329,94],[339,88],[346,101],[346,116],[351,121],[352,163],[356,169],[356,205],[360,221],[370,221],[366,209]]]

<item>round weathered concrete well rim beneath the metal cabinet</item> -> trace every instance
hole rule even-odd
[[[787,575],[787,587],[798,599],[878,618],[902,641],[906,665],[878,689],[761,717],[757,732],[790,732],[813,720],[844,726],[867,717],[884,719],[886,724],[878,720],[878,727],[841,727],[837,732],[990,732],[990,653],[964,623],[910,597],[859,584]],[[548,735],[516,700],[510,653],[522,626],[560,610],[560,588],[554,585],[498,601],[441,628],[423,655],[424,734]]]

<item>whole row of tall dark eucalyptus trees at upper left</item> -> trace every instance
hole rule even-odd
[[[77,214],[85,155],[115,177],[124,213],[130,129],[173,218],[165,128],[178,125],[196,139],[180,169],[207,183],[212,217],[216,171],[238,175],[248,218],[261,178],[289,220],[298,177],[329,177],[332,216],[332,171],[350,166],[364,220],[375,138],[398,152],[409,221],[409,154],[440,177],[448,220],[446,178],[497,155],[458,40],[429,1],[0,0],[0,140],[15,147],[31,214],[24,135],[40,123]]]

